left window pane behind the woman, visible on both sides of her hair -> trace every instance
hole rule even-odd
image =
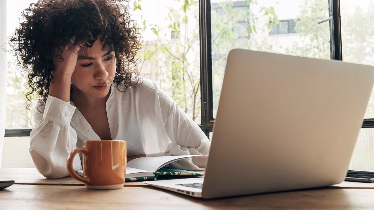
[[[7,35],[19,26],[21,12],[36,0],[7,0]],[[143,46],[137,70],[154,80],[196,123],[201,122],[199,4],[180,0],[133,0],[132,18],[141,28]],[[26,110],[27,75],[8,55],[6,129],[33,128]],[[37,97],[37,96],[36,96]],[[30,109],[33,109],[33,105]]]

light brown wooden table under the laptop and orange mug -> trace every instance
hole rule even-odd
[[[45,179],[36,169],[0,168],[0,209],[374,209],[374,184],[343,182],[324,188],[203,200],[140,182],[123,189],[88,190],[65,177]],[[131,184],[130,184],[131,183]]]

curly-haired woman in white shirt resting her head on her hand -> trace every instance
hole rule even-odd
[[[137,157],[203,155],[172,167],[199,170],[210,142],[156,84],[131,71],[140,34],[117,1],[39,0],[11,37],[28,72],[34,109],[30,154],[47,178],[68,176],[66,160],[85,140],[127,141]],[[29,104],[30,105],[30,104]],[[73,162],[82,168],[81,159]]]

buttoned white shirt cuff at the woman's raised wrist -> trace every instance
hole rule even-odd
[[[73,117],[75,106],[53,96],[47,96],[43,118],[68,127]]]

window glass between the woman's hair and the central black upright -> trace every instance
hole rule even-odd
[[[200,124],[198,1],[133,0],[130,7],[143,39],[138,72],[154,80]]]

